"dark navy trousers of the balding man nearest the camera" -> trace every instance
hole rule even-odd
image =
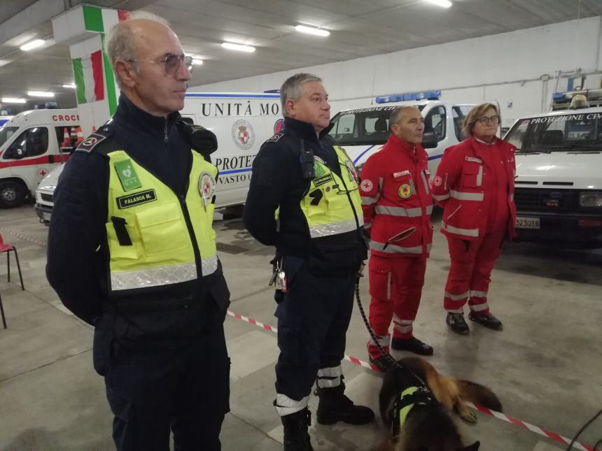
[[[105,377],[118,451],[221,450],[230,410],[230,359],[223,327],[174,349],[130,350],[106,328],[94,331],[94,368]]]

